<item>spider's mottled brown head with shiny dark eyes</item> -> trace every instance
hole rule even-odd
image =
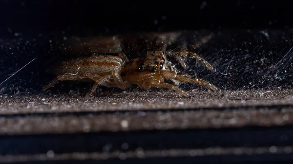
[[[144,58],[143,62],[139,65],[138,70],[142,71],[152,71],[156,72],[159,70],[165,69],[165,58],[162,51],[155,51],[151,52],[148,51],[146,53],[146,57]]]

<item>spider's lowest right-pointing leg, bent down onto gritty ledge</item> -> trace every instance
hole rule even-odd
[[[169,90],[174,90],[177,91],[181,94],[183,94],[184,96],[188,97],[189,94],[186,91],[182,91],[180,90],[178,87],[172,85],[172,84],[168,84],[165,82],[161,82],[160,80],[154,79],[154,78],[148,78],[146,79],[141,88],[144,88],[145,90],[150,89],[151,87],[162,87],[162,88],[166,88]]]

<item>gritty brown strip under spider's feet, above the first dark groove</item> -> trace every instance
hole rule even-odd
[[[0,114],[95,112],[155,109],[240,108],[293,105],[293,91],[192,91],[184,97],[172,91],[112,92],[85,98],[81,95],[0,95]]]

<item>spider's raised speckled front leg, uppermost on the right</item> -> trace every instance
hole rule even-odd
[[[187,68],[187,64],[184,61],[185,58],[187,57],[187,58],[194,58],[194,59],[200,61],[210,71],[213,71],[213,72],[216,71],[216,69],[213,68],[209,64],[209,62],[206,61],[204,58],[202,58],[200,55],[197,55],[196,53],[190,52],[188,50],[185,50],[185,49],[181,49],[181,50],[169,50],[169,51],[166,51],[166,54],[167,55],[170,55],[170,56],[175,56],[184,69]]]

